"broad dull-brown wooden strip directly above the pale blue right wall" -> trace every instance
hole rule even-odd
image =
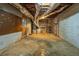
[[[62,21],[78,12],[79,12],[79,4],[73,4],[68,9],[60,13],[57,17],[55,17],[54,20]]]

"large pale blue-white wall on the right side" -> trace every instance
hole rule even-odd
[[[60,21],[59,35],[62,36],[64,40],[79,48],[79,12]]]

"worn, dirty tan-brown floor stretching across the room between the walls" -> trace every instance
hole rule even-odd
[[[36,35],[36,34],[33,34]],[[38,38],[40,35],[41,38]],[[79,49],[68,42],[52,35],[52,38],[23,37],[21,40],[10,44],[0,50],[0,55],[6,56],[79,56]],[[47,35],[48,36],[48,35]],[[49,35],[50,36],[50,35]],[[43,38],[42,38],[43,37]],[[56,38],[55,38],[56,37]]]

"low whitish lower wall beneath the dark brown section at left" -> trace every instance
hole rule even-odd
[[[21,32],[6,34],[0,36],[0,49],[7,47],[9,44],[17,41],[21,37]]]

